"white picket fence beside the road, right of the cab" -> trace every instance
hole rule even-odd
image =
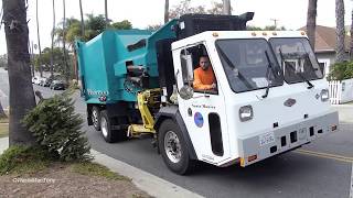
[[[329,81],[329,92],[333,105],[353,101],[353,79]]]

